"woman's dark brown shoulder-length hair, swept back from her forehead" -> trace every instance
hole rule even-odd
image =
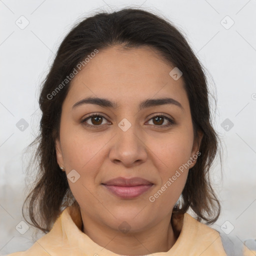
[[[135,8],[124,8],[112,13],[99,11],[83,18],[61,42],[40,91],[42,116],[39,134],[29,145],[37,145],[33,159],[38,163],[38,172],[22,206],[23,217],[23,208],[28,202],[30,224],[46,233],[65,207],[77,203],[65,172],[58,166],[54,143],[59,137],[61,106],[70,81],[61,86],[54,97],[49,97],[49,94],[88,54],[114,44],[123,48],[151,46],[163,59],[182,71],[194,139],[198,139],[199,130],[203,137],[199,148],[201,155],[188,171],[180,196],[182,200],[175,204],[173,213],[184,213],[190,207],[197,220],[205,220],[208,224],[215,222],[220,213],[220,203],[209,181],[209,168],[218,149],[218,136],[211,124],[205,71],[184,36],[170,21]]]

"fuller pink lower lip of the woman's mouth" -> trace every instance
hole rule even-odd
[[[153,184],[138,186],[113,186],[105,184],[103,185],[115,195],[127,199],[141,195],[142,193],[146,192]]]

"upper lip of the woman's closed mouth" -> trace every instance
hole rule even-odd
[[[138,185],[151,185],[152,182],[140,177],[132,177],[132,178],[117,177],[117,178],[109,179],[106,182],[103,182],[102,184],[113,185],[113,186],[138,186]]]

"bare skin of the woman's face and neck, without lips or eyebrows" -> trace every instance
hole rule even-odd
[[[196,154],[202,136],[198,143],[194,141],[183,79],[169,75],[173,67],[149,46],[123,49],[115,45],[99,50],[72,79],[62,105],[56,157],[66,174],[72,169],[80,174],[68,183],[80,205],[82,231],[117,254],[165,252],[177,239],[170,218],[188,168],[154,202],[148,199]],[[72,109],[87,96],[116,101],[118,107],[83,104]],[[138,111],[142,100],[166,96],[179,101],[183,109],[162,104]],[[85,121],[95,128],[81,123],[91,113],[105,118]],[[175,123],[164,127],[169,121],[158,124],[153,114],[164,114]],[[131,123],[126,131],[118,126],[123,118]],[[153,186],[133,199],[119,198],[101,184],[118,176],[142,177]],[[123,221],[129,225],[127,233],[118,228]]]

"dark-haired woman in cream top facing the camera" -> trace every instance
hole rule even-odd
[[[82,20],[39,104],[40,168],[25,202],[46,234],[9,255],[226,255],[207,225],[220,204],[206,78],[170,22],[132,8]]]

